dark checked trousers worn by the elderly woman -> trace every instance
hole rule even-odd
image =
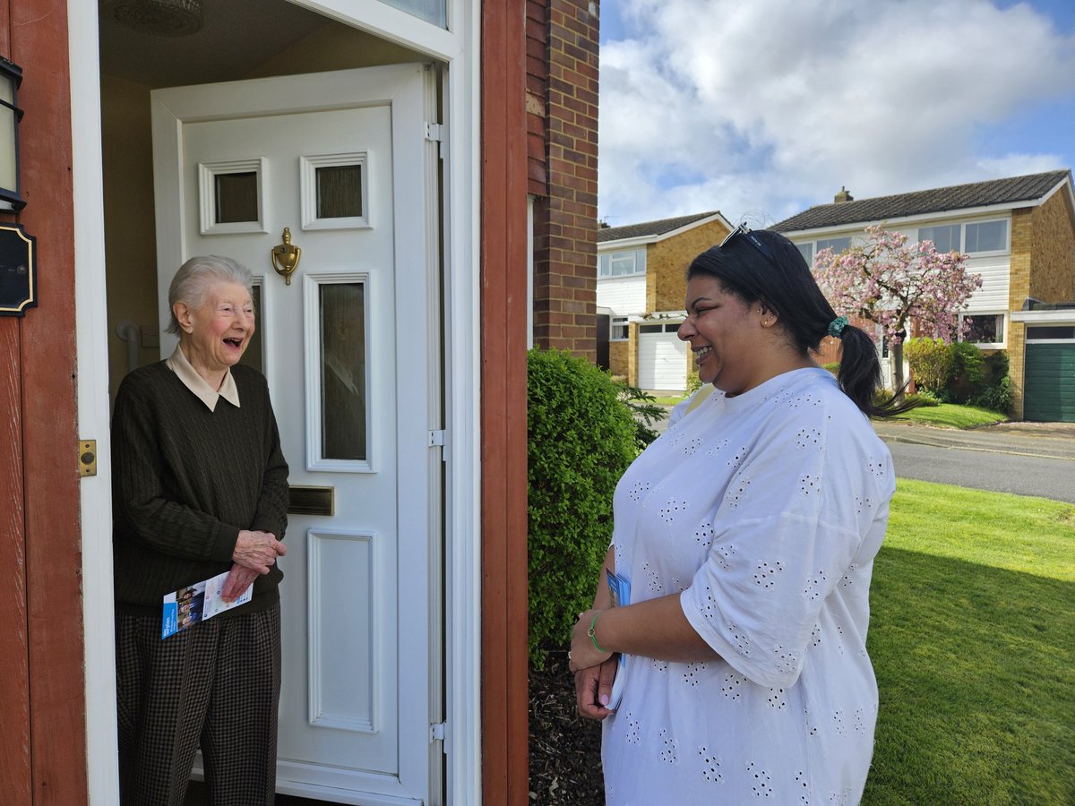
[[[272,806],[280,604],[161,641],[160,619],[116,614],[124,806],[183,806],[201,748],[211,806]]]

